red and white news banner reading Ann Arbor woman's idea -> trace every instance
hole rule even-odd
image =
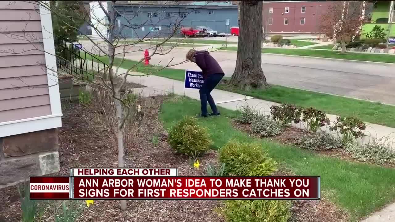
[[[177,168],[72,168],[30,177],[30,199],[321,199],[320,177],[182,177]]]

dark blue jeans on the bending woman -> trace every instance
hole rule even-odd
[[[210,95],[210,92],[216,87],[216,85],[221,81],[224,74],[222,73],[214,73],[207,77],[204,81],[203,86],[199,89],[200,94],[200,104],[201,104],[201,115],[207,115],[207,102],[211,107],[213,113],[218,113],[218,109],[215,105],[213,97]]]

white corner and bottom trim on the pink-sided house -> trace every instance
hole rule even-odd
[[[43,3],[48,5],[49,1],[43,1]],[[0,122],[0,137],[62,127],[62,106],[60,105],[52,18],[51,12],[43,6],[40,6],[40,20],[45,51],[45,65],[47,67],[51,115]]]

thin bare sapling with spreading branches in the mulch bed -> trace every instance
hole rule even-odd
[[[51,8],[52,2],[50,1],[26,1],[26,2],[39,6],[41,9],[43,9],[43,10],[40,9],[40,12],[45,11],[45,13],[52,13],[57,15],[58,17],[64,17],[64,19],[59,19],[58,21],[62,23],[61,24],[62,27],[67,27],[75,31],[78,31],[81,25],[81,20],[83,20],[90,25],[90,27],[92,28],[92,32],[94,32],[95,35],[100,38],[98,40],[92,38],[92,36],[83,34],[83,36],[87,39],[87,41],[84,44],[86,46],[86,49],[88,49],[89,51],[88,53],[85,52],[85,55],[82,55],[81,50],[76,49],[75,45],[73,45],[72,43],[67,43],[64,40],[65,39],[64,36],[54,36],[54,38],[59,40],[56,42],[60,44],[60,45],[56,45],[55,48],[57,47],[57,49],[60,51],[65,50],[68,53],[53,54],[51,52],[44,51],[43,49],[38,47],[36,47],[34,50],[39,50],[39,51],[43,51],[44,53],[49,53],[51,55],[54,55],[56,56],[57,60],[60,63],[63,63],[65,65],[59,69],[57,67],[45,66],[44,68],[48,73],[55,73],[54,74],[55,77],[61,75],[72,77],[72,79],[74,80],[78,80],[79,82],[84,82],[88,84],[91,88],[99,88],[100,92],[107,92],[111,95],[111,98],[113,100],[113,102],[111,102],[111,104],[113,104],[112,109],[115,110],[114,115],[117,120],[116,121],[117,126],[114,131],[117,134],[116,137],[117,137],[117,147],[118,147],[117,149],[118,167],[124,167],[124,151],[126,148],[125,148],[125,139],[123,132],[125,129],[125,124],[128,124],[128,122],[130,122],[128,121],[130,120],[129,117],[135,114],[134,113],[135,107],[133,107],[135,104],[131,104],[130,101],[127,101],[127,98],[125,98],[124,96],[126,91],[125,87],[129,76],[142,76],[141,73],[135,74],[135,71],[138,71],[138,68],[141,70],[141,62],[143,62],[143,59],[137,61],[134,65],[131,65],[126,69],[122,68],[122,65],[125,63],[127,55],[136,52],[143,52],[147,48],[150,49],[151,51],[149,55],[150,58],[152,56],[168,54],[172,49],[174,49],[174,47],[177,47],[178,44],[173,43],[171,47],[165,47],[165,43],[169,41],[170,38],[173,37],[179,31],[181,27],[181,22],[184,19],[184,17],[189,13],[192,13],[195,9],[191,9],[187,13],[185,13],[184,11],[182,13],[179,12],[177,14],[172,13],[173,15],[171,15],[171,17],[173,17],[173,19],[169,20],[168,23],[169,28],[168,30],[165,31],[165,33],[148,32],[144,36],[139,36],[136,30],[141,29],[145,25],[150,25],[153,27],[158,26],[159,24],[161,24],[160,22],[162,20],[158,19],[158,21],[153,21],[153,19],[149,18],[146,21],[136,23],[134,19],[135,17],[137,17],[137,13],[139,12],[139,9],[137,11],[134,11],[133,13],[117,11],[117,7],[115,7],[116,1],[90,2],[91,7],[89,8],[88,11],[86,10],[84,11],[85,8],[82,7],[81,10],[75,11],[73,15],[68,15],[62,13],[62,11],[57,11],[55,9],[56,7]],[[92,8],[92,6],[96,8]],[[75,7],[75,5],[73,5],[73,7]],[[158,7],[158,10],[154,13],[156,15],[161,15],[169,7],[171,6],[165,3],[164,5]],[[199,6],[197,6],[197,8],[198,7]],[[124,18],[124,21],[126,21],[126,24],[120,26],[119,21],[117,21],[117,18],[122,18],[122,17]],[[159,17],[159,16],[153,16],[153,17]],[[168,17],[168,16],[162,16],[162,17]],[[28,21],[26,21],[26,25],[27,23]],[[137,38],[130,40],[129,39],[130,37],[128,35],[123,34],[124,33],[123,31],[125,29],[133,32]],[[23,38],[24,40],[32,43],[32,45],[34,44],[34,42],[39,40],[37,36],[31,36],[30,34],[27,34],[25,30],[22,31],[24,33],[22,35],[20,34],[16,35],[11,33],[4,33],[4,34],[6,34],[9,38],[17,38],[17,39]],[[47,32],[50,32],[50,30],[47,30]],[[150,46],[146,45],[146,47],[144,47],[144,45],[141,45],[147,41],[151,43],[155,42],[155,45],[150,45]],[[178,41],[178,43],[180,42]],[[64,44],[64,47],[62,46],[62,44]],[[68,46],[71,47],[69,48]],[[4,53],[23,53],[23,52],[16,52],[13,49],[9,49],[6,50]],[[92,61],[95,59],[96,61],[101,61],[96,56],[96,54],[105,56],[104,58],[103,57],[100,58],[103,61],[105,59],[108,59],[108,62],[103,62],[103,64],[97,63],[96,65],[94,65],[94,63],[92,62],[92,67],[88,67],[88,64],[90,66],[90,62],[87,62],[88,61],[87,59],[90,59]],[[160,71],[166,67],[177,65],[177,64],[171,64],[172,61],[173,59],[171,59],[170,62],[168,62],[167,64],[163,64],[162,66],[155,65],[155,66],[149,66],[147,68],[144,68],[143,75],[149,75],[151,73]],[[183,62],[186,62],[186,60]],[[45,64],[41,64],[41,65],[45,65]],[[93,70],[97,70],[97,71],[93,71]],[[126,200],[120,201],[120,208],[122,210],[126,209]]]

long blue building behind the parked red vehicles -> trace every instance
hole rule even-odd
[[[206,26],[218,33],[230,33],[237,26],[237,5],[137,5],[115,4],[117,34],[122,38],[169,36],[180,27]],[[176,31],[177,36],[179,29]]]

